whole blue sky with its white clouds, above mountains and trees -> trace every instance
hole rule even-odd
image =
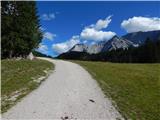
[[[38,51],[51,56],[77,43],[160,29],[160,2],[37,1],[37,8],[44,32]]]

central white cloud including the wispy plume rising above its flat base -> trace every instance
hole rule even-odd
[[[80,36],[84,40],[95,40],[95,41],[103,41],[103,40],[109,40],[114,35],[116,35],[115,32],[111,31],[103,31],[103,28],[107,28],[111,20],[111,15],[108,16],[106,19],[102,20],[99,19],[96,24],[92,24],[88,27],[85,27]]]

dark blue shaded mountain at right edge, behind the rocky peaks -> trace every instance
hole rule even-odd
[[[134,33],[128,33],[122,38],[127,39],[134,44],[144,44],[145,40],[147,38],[150,38],[151,40],[156,40],[157,38],[160,38],[160,30],[157,31],[148,31],[148,32],[134,32]]]

